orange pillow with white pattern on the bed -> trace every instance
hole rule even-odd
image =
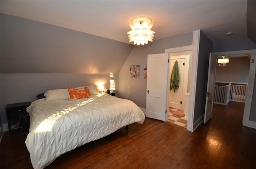
[[[67,87],[67,89],[69,94],[69,100],[77,100],[80,98],[88,98],[91,96],[88,87],[77,88],[77,89]]]

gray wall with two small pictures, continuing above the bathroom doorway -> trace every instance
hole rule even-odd
[[[147,64],[148,55],[164,53],[165,49],[192,45],[193,32],[155,40],[148,45],[135,46],[119,73],[119,95],[146,108],[146,83],[143,78],[143,66]],[[192,59],[192,58],[190,58]],[[130,66],[140,65],[140,77],[130,77]]]

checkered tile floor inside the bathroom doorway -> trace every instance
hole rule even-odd
[[[173,123],[173,124],[177,124],[179,126],[182,126],[184,128],[187,128],[187,124],[188,124],[188,118],[187,117],[181,117],[181,116],[177,116],[175,114],[172,114],[173,112],[177,111],[178,109],[176,108],[170,108],[169,107],[169,117],[168,117],[168,121]]]

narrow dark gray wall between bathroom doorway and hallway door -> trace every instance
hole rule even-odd
[[[200,31],[198,67],[196,75],[196,93],[194,106],[194,122],[199,120],[205,111],[205,99],[208,79],[209,54],[212,52],[212,41]]]

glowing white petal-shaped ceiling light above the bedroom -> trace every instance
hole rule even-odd
[[[134,45],[144,45],[145,43],[148,44],[148,41],[153,41],[153,33],[156,33],[151,30],[152,26],[152,19],[140,16],[132,19],[132,24],[129,24],[131,31],[127,32],[128,37],[130,39],[129,42],[133,41]]]

